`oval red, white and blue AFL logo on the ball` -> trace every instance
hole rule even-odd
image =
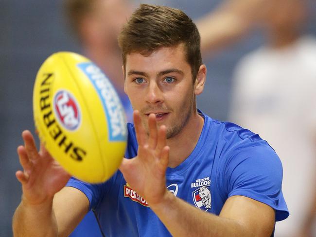
[[[53,108],[59,123],[68,130],[76,130],[80,125],[81,114],[75,98],[66,90],[59,90],[54,96]]]

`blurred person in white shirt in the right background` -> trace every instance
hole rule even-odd
[[[268,140],[282,160],[291,215],[276,237],[316,236],[316,39],[301,34],[306,6],[274,0],[262,11],[266,45],[240,61],[233,80],[230,120]]]

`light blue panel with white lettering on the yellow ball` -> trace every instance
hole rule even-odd
[[[86,74],[101,99],[108,122],[109,140],[125,141],[126,121],[124,110],[114,87],[101,69],[93,63],[79,63],[77,67]]]

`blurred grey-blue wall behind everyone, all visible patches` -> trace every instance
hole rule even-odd
[[[219,0],[151,2],[167,2],[197,18]],[[20,169],[16,149],[22,143],[21,132],[34,131],[32,90],[36,72],[55,51],[80,52],[65,27],[61,4],[62,0],[0,0],[0,237],[12,236],[12,216],[21,197],[21,186],[15,177]],[[315,24],[309,25],[309,31],[316,32]],[[253,34],[205,60],[208,82],[198,99],[204,112],[226,119],[233,67],[245,52],[262,41],[259,34]]]

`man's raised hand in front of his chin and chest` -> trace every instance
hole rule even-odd
[[[134,111],[138,155],[123,159],[120,166],[126,182],[142,196],[149,205],[159,203],[169,191],[166,187],[166,169],[169,147],[166,145],[166,127],[157,128],[155,114],[148,117],[149,136],[141,124],[139,111]]]

